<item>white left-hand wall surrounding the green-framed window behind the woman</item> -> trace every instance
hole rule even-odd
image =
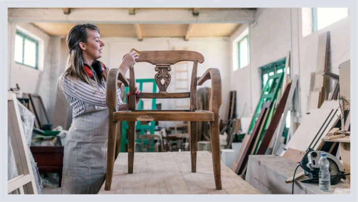
[[[38,69],[15,62],[14,47],[16,29],[39,41]],[[8,89],[19,85],[23,93],[38,94],[46,108],[50,123],[56,101],[55,81],[59,72],[60,38],[50,37],[27,23],[8,23]]]

